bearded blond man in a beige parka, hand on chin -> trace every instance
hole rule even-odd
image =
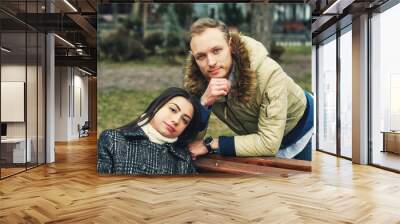
[[[263,44],[201,18],[191,26],[190,49],[184,87],[200,98],[203,120],[212,111],[237,134],[192,142],[193,159],[217,153],[311,160],[313,97]]]

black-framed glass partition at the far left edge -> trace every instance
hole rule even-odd
[[[42,13],[44,3],[19,2],[18,7],[21,15]],[[7,4],[11,2],[1,2],[0,7]],[[43,33],[10,15],[0,12],[0,18],[0,110],[13,115],[1,119],[7,125],[0,144],[0,178],[5,178],[45,162],[46,40]],[[5,106],[10,95],[16,109]]]

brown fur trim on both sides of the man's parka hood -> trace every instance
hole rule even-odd
[[[250,54],[240,34],[232,33],[232,58],[234,61],[234,81],[236,97],[241,102],[248,102],[256,92],[256,73],[250,68]],[[185,66],[184,86],[193,95],[201,97],[208,85],[196,61],[188,55]]]

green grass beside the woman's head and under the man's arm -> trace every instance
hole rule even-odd
[[[97,105],[98,133],[117,128],[140,116],[161,91],[99,91]],[[233,132],[211,115],[207,135],[233,135]]]

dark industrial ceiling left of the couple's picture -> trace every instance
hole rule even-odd
[[[96,74],[96,23],[96,0],[0,1],[2,46],[12,49],[9,60],[35,55],[36,39],[29,32],[49,32],[57,34],[56,66],[79,66]]]

